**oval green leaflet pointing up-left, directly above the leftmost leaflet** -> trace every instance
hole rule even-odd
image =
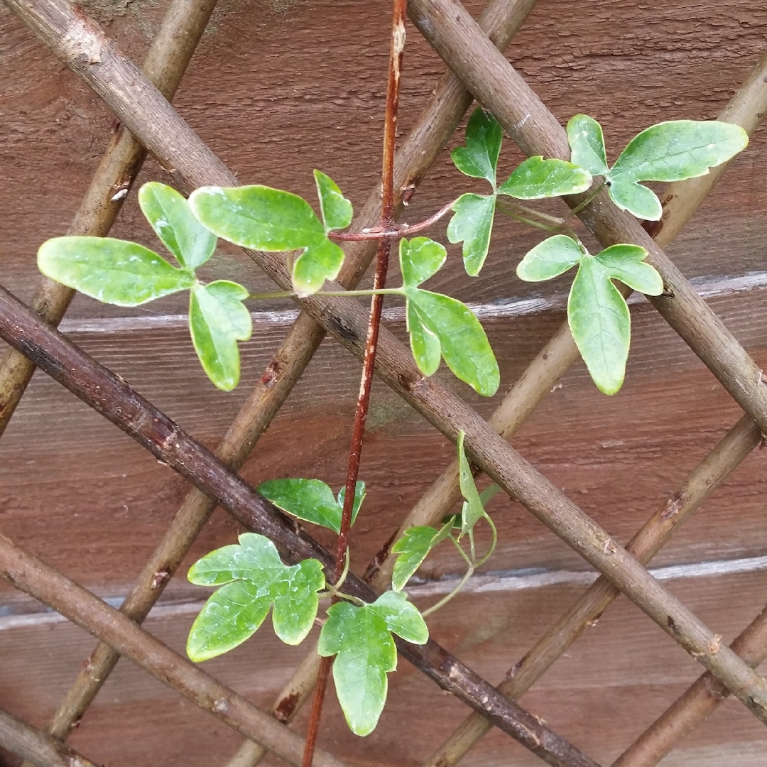
[[[194,271],[213,255],[216,235],[194,217],[176,189],[150,181],[139,189],[139,205],[163,245],[184,268]]]

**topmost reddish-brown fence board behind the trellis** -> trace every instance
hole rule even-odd
[[[291,5],[281,14],[265,3],[256,4],[254,12],[249,8],[227,8],[214,34],[203,40],[189,79],[176,97],[181,114],[243,183],[283,186],[314,201],[311,169],[318,166],[360,206],[380,166],[386,14],[377,18],[360,2],[316,0]],[[142,5],[140,14],[145,12]],[[63,232],[78,190],[84,189],[94,170],[97,147],[104,146],[110,117],[39,43],[18,29],[18,23],[13,17],[6,20],[8,31],[0,42],[5,67],[0,82],[7,88],[2,95],[8,110],[8,122],[3,120],[0,126],[0,130],[8,126],[8,140],[3,143],[8,153],[4,171],[10,176],[5,199],[18,225],[4,228],[0,237],[3,284],[23,298],[35,275],[35,251],[48,236]],[[137,26],[129,13],[114,19],[110,34],[117,33],[120,44],[137,48],[142,40]],[[654,121],[714,117],[760,54],[765,29],[764,12],[744,0],[667,3],[653,9],[616,8],[604,0],[542,0],[509,56],[560,120],[583,110],[603,120],[614,158],[637,130]],[[442,64],[412,27],[407,44],[402,133],[416,119],[442,71]],[[653,56],[644,53],[648,48]],[[253,55],[256,50],[258,56]],[[19,51],[26,57],[26,67],[18,64]],[[216,72],[216,84],[210,72]],[[59,120],[56,131],[48,130],[53,120]],[[765,148],[758,137],[736,160],[732,186],[726,193],[715,193],[696,219],[706,226],[705,234],[693,225],[670,251],[686,275],[762,269],[758,243],[759,212],[765,204],[760,170]],[[510,170],[518,155],[510,141],[506,145],[502,165]],[[52,183],[62,173],[67,184]],[[153,166],[151,174],[157,173]],[[143,179],[148,178],[144,174]],[[481,192],[482,186],[450,170],[443,153],[414,197],[408,218],[435,210],[463,189]],[[117,226],[117,235],[153,242],[135,200],[127,207],[130,211]],[[712,232],[725,239],[721,246],[711,246]],[[444,233],[444,226],[435,229],[443,241]],[[472,301],[547,291],[546,286],[523,285],[513,275],[525,247],[535,242],[535,233],[507,225],[499,235],[480,278],[462,277],[459,258],[452,258],[433,284]],[[457,256],[459,249],[452,247],[451,253]],[[239,257],[225,269],[254,287],[266,285]],[[185,309],[183,298],[169,299],[165,305],[169,311]],[[155,304],[150,309],[166,311],[162,307]],[[78,298],[72,316],[104,311],[114,312]]]

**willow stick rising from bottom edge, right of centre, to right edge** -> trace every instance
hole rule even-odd
[[[742,416],[703,462],[693,469],[682,489],[660,505],[631,538],[627,551],[646,565],[761,439],[759,427],[749,416]],[[513,700],[521,698],[620,594],[604,575],[594,581],[532,650],[506,673],[498,686],[499,691]],[[734,645],[732,649],[742,656]],[[745,660],[748,662],[748,659]],[[491,728],[492,724],[479,714],[469,715],[433,753],[426,762],[427,767],[456,765]],[[630,765],[637,767],[633,762]]]

